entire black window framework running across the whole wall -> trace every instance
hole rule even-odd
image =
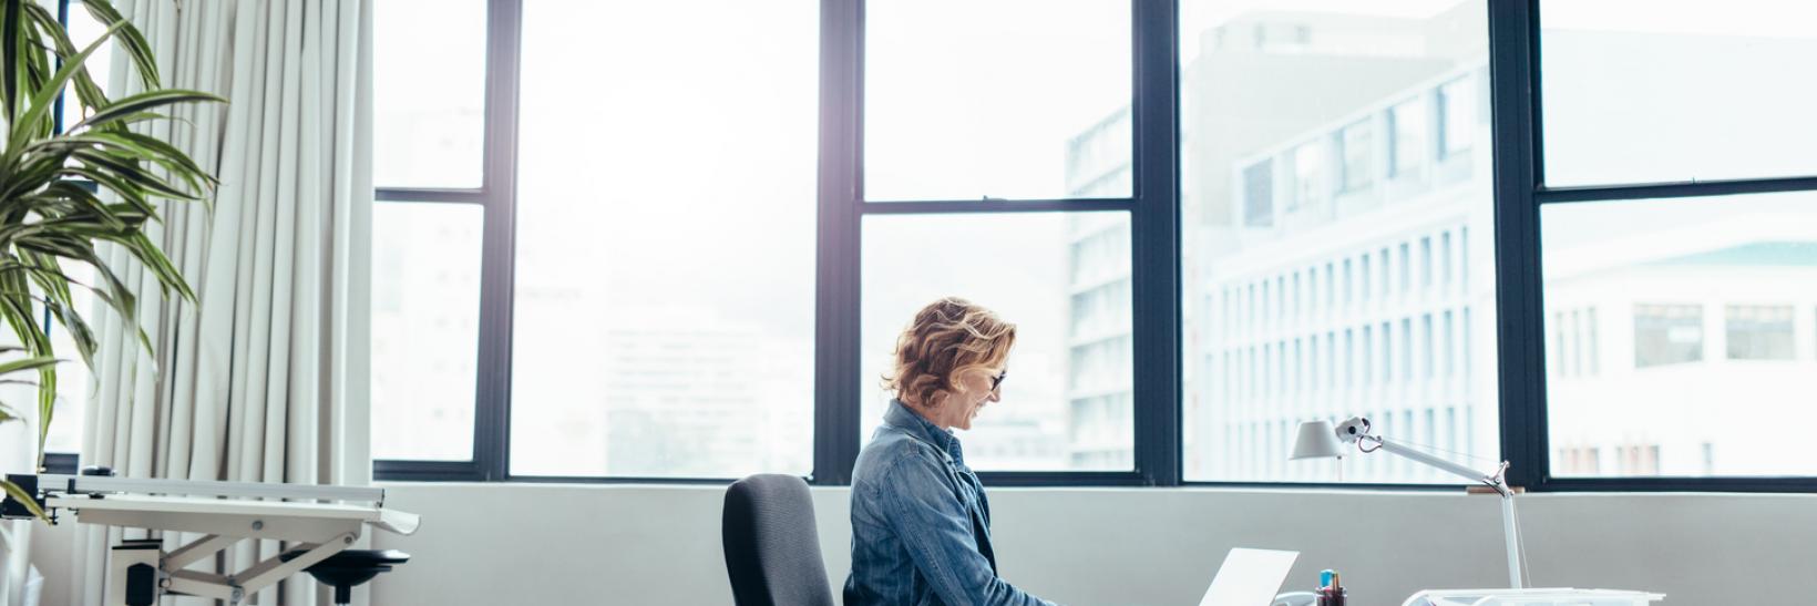
[[[67,0],[65,0],[67,2]],[[1539,0],[1488,4],[1490,129],[1501,455],[1534,492],[1817,492],[1813,477],[1552,477],[1539,210],[1548,203],[1817,191],[1817,176],[1548,187],[1543,174]],[[487,2],[485,176],[480,189],[378,189],[380,203],[485,209],[474,452],[471,461],[374,461],[380,481],[725,483],[727,477],[509,474],[516,107],[523,0]],[[850,483],[859,450],[861,221],[887,214],[1128,212],[1134,330],[1134,468],[983,472],[992,486],[1268,486],[1455,490],[1459,484],[1185,481],[1181,446],[1179,5],[1130,0],[1132,192],[1101,200],[863,200],[865,2],[819,2],[814,484]],[[1472,151],[1484,142],[1472,142]],[[1388,269],[1385,269],[1388,270]]]

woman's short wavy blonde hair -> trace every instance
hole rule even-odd
[[[896,337],[896,370],[883,377],[883,388],[907,405],[934,406],[958,392],[961,374],[1003,365],[1014,345],[1016,325],[972,301],[943,298],[916,312]]]

